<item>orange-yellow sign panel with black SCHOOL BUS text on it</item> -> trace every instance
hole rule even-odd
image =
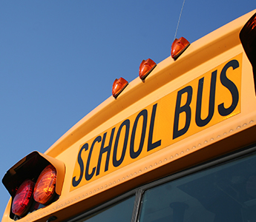
[[[82,144],[70,190],[239,113],[241,56],[209,70]]]

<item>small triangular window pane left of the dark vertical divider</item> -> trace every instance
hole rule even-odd
[[[82,221],[86,222],[131,222],[132,212],[134,209],[135,196],[126,199],[125,201],[116,203],[100,212],[96,212]]]

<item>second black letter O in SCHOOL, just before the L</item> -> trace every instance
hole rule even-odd
[[[140,147],[137,152],[134,152],[134,139],[135,139],[135,133],[137,129],[137,124],[139,121],[140,116],[143,116],[143,125],[142,125],[142,133],[140,138]],[[145,141],[145,129],[147,128],[147,121],[148,121],[148,111],[142,110],[136,117],[134,121],[134,127],[131,132],[131,144],[130,144],[130,156],[131,158],[137,158],[138,155],[140,155],[140,152],[142,152],[142,147]]]

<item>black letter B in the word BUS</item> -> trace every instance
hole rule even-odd
[[[188,127],[189,127],[190,121],[191,121],[191,108],[189,107],[189,105],[192,100],[192,91],[193,91],[192,87],[188,86],[188,87],[185,87],[184,89],[180,90],[177,93],[177,101],[176,101],[175,114],[174,114],[174,134],[172,137],[173,139],[183,135],[184,133],[186,133],[188,131]],[[185,92],[188,93],[188,98],[187,98],[186,104],[183,107],[180,107],[181,96]],[[186,124],[183,129],[178,130],[179,118],[180,118],[181,112],[186,112]]]

